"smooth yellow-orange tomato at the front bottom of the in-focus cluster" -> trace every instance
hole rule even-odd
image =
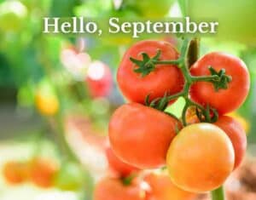
[[[196,123],[172,140],[166,157],[171,180],[185,191],[212,191],[223,185],[234,169],[235,152],[222,129]]]

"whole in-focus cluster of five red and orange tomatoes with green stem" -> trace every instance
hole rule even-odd
[[[114,111],[108,136],[122,162],[137,169],[167,166],[179,190],[212,191],[246,151],[245,131],[225,114],[246,99],[249,73],[242,60],[219,52],[188,66],[184,49],[179,54],[171,43],[143,41],[127,50],[117,81],[130,102]],[[186,100],[181,120],[165,112],[180,96]]]

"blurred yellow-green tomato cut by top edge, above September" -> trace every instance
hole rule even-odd
[[[124,3],[137,9],[146,18],[161,18],[168,14],[174,0],[162,0],[160,3],[155,0],[125,0]]]

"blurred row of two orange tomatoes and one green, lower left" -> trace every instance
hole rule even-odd
[[[35,157],[27,162],[10,161],[3,166],[7,183],[32,182],[41,188],[55,186],[63,191],[78,191],[85,186],[86,174],[78,163],[65,162],[61,168],[52,160]]]

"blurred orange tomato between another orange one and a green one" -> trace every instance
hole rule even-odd
[[[35,158],[30,165],[30,178],[35,185],[45,188],[53,186],[54,176],[57,172],[55,163]]]

